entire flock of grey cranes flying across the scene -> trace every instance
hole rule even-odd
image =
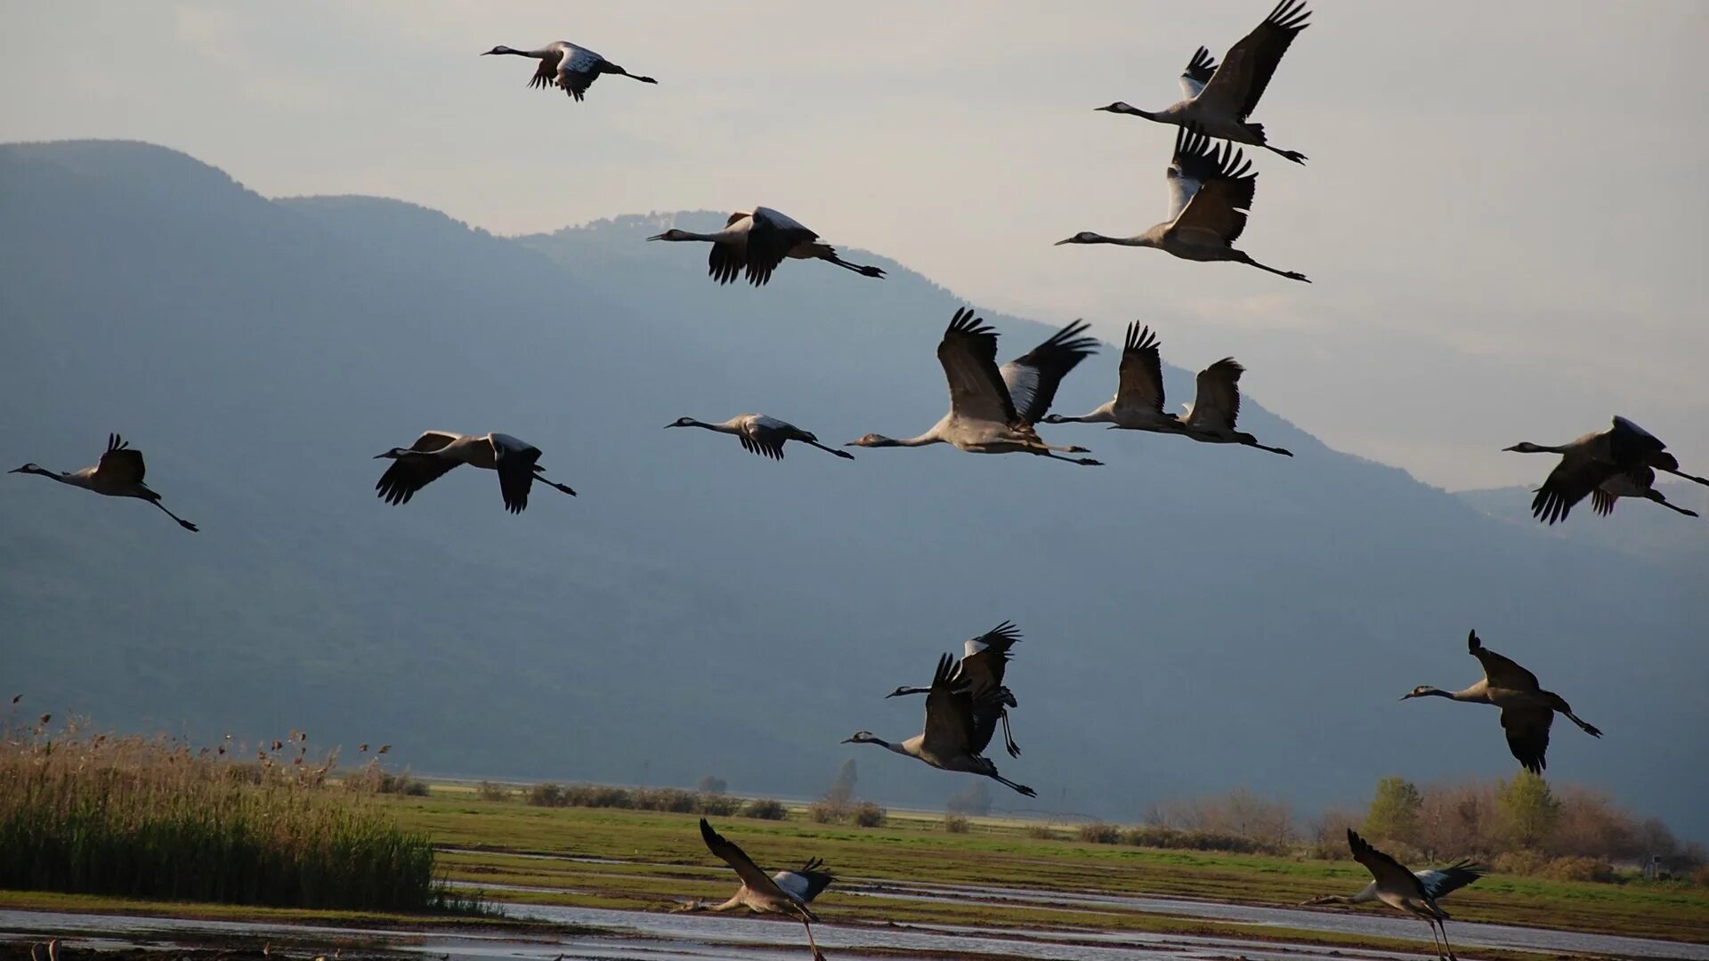
[[[1263,147],[1295,164],[1306,162],[1304,154],[1271,145],[1263,125],[1251,123],[1249,116],[1268,89],[1282,56],[1299,32],[1309,26],[1307,19],[1304,0],[1282,0],[1256,29],[1224,55],[1220,65],[1207,48],[1198,48],[1189,58],[1186,72],[1181,74],[1184,99],[1157,111],[1133,108],[1121,101],[1097,108],[1179,128],[1174,154],[1166,171],[1169,219],[1135,236],[1113,238],[1078,233],[1058,241],[1058,245],[1148,246],[1183,260],[1246,263],[1285,279],[1309,282],[1304,274],[1260,263],[1234,246],[1246,227],[1258,180],[1253,162],[1236,144]],[[557,87],[574,101],[581,101],[593,82],[605,74],[629,77],[643,84],[658,84],[653,77],[631,74],[598,53],[567,41],[549,43],[537,50],[494,46],[485,55],[537,60],[538,65],[528,85]],[[708,274],[718,284],[731,284],[738,277],[745,277],[749,284],[762,287],[784,260],[824,260],[863,277],[884,277],[884,270],[877,267],[844,260],[836,248],[822,243],[815,231],[769,207],[733,212],[723,229],[716,233],[668,229],[646,239],[711,245]],[[913,438],[896,439],[868,433],[843,446],[952,445],[967,453],[1027,453],[1097,467],[1101,465],[1097,460],[1066,457],[1090,453],[1084,446],[1046,443],[1037,433],[1037,424],[1107,424],[1111,429],[1174,434],[1200,443],[1244,445],[1292,457],[1290,451],[1266,446],[1253,434],[1237,429],[1239,381],[1244,368],[1234,357],[1224,357],[1201,369],[1193,404],[1179,416],[1167,412],[1159,337],[1138,323],[1128,325],[1126,330],[1114,397],[1082,416],[1051,414],[1049,409],[1063,378],[1097,351],[1097,342],[1085,332],[1084,321],[1070,323],[1025,354],[998,366],[996,330],[981,321],[972,310],[957,310],[937,347],[938,363],[948,381],[948,412],[928,431]],[[723,422],[680,417],[667,427],[701,427],[733,434],[743,450],[772,460],[783,460],[784,445],[790,441],[819,448],[839,458],[853,458],[846,450],[820,443],[813,433],[766,414],[742,414]],[[1586,434],[1565,445],[1519,443],[1506,450],[1560,457],[1560,462],[1536,489],[1533,501],[1533,515],[1547,523],[1565,520],[1572,506],[1586,496],[1591,498],[1594,511],[1601,515],[1608,515],[1618,498],[1641,498],[1695,516],[1694,511],[1670,504],[1654,489],[1656,472],[1706,486],[1709,486],[1709,479],[1685,474],[1678,460],[1665,448],[1663,441],[1632,421],[1615,417],[1608,431]],[[497,474],[499,494],[509,513],[521,513],[528,506],[528,494],[537,482],[574,496],[576,491],[569,486],[545,477],[540,457],[540,448],[509,434],[473,436],[427,431],[407,448],[391,448],[376,455],[376,458],[390,460],[391,465],[381,474],[374,489],[388,504],[405,504],[422,487],[451,469],[468,465]],[[137,498],[164,511],[185,530],[198,530],[197,525],[167,510],[161,503],[161,494],[144,484],[142,453],[130,448],[118,434],[108,438],[108,448],[94,467],[53,472],[36,463],[26,463],[12,474],[36,474],[96,494]],[[960,658],[950,653],[940,655],[928,687],[902,686],[892,691],[890,698],[926,696],[925,723],[919,734],[890,742],[860,730],[844,744],[877,744],[933,768],[986,776],[1025,797],[1036,797],[1031,787],[1005,778],[984,754],[1001,727],[1005,751],[1010,758],[1020,756],[1020,747],[1010,732],[1010,710],[1017,708],[1019,701],[1007,686],[1012,648],[1019,640],[1020,631],[1005,621],[966,641]],[[1565,699],[1545,691],[1536,675],[1485,648],[1477,633],[1470,634],[1468,650],[1483,665],[1483,679],[1463,691],[1420,686],[1405,694],[1403,699],[1439,696],[1497,706],[1512,756],[1533,773],[1545,768],[1548,730],[1557,713],[1586,734],[1601,735],[1600,730],[1579,720]],[[796,870],[767,876],[740,846],[718,834],[704,819],[701,821],[701,836],[706,846],[737,872],[742,887],[721,905],[694,901],[680,910],[749,908],[793,917],[807,927],[808,946],[813,956],[820,958],[812,935],[812,922],[817,920],[817,915],[808,905],[834,881],[824,865],[815,860]],[[1354,831],[1348,831],[1347,840],[1354,858],[1371,870],[1372,882],[1354,896],[1324,896],[1307,903],[1383,901],[1429,922],[1432,939],[1441,935],[1437,940],[1439,956],[1453,958],[1448,932],[1442,927],[1448,915],[1437,899],[1475,881],[1480,869],[1461,862],[1439,870],[1412,872],[1389,855],[1372,848]]]

